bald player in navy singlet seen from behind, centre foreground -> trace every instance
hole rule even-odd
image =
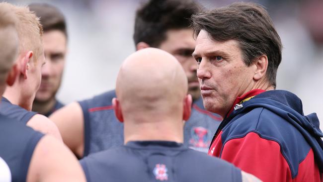
[[[192,104],[187,88],[182,67],[169,53],[147,48],[130,55],[112,99],[125,145],[82,159],[87,181],[241,182],[244,175],[232,164],[184,146],[183,121]]]

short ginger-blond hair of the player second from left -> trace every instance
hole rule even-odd
[[[19,37],[18,55],[31,50],[32,60],[36,62],[44,51],[41,38],[43,28],[39,18],[27,6],[15,6],[6,2],[1,2],[0,5],[14,12],[17,17],[15,27]]]

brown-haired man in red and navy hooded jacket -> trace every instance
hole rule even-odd
[[[264,182],[318,182],[323,137],[315,113],[275,91],[281,41],[266,10],[233,3],[192,17],[203,104],[225,119],[209,155]]]

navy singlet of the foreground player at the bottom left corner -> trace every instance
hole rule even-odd
[[[0,114],[0,158],[10,170],[10,174],[6,172],[2,175],[10,176],[12,182],[25,182],[32,154],[43,136],[21,122]]]

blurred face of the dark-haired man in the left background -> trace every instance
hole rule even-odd
[[[49,101],[60,88],[66,54],[66,36],[60,30],[44,32],[46,64],[41,70],[42,81],[35,100]]]

